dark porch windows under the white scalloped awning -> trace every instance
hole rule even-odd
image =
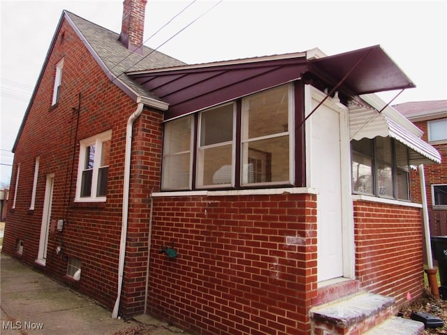
[[[353,192],[409,200],[409,156],[390,137],[351,141]]]

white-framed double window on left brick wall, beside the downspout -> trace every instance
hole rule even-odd
[[[76,201],[105,201],[111,131],[80,141]]]

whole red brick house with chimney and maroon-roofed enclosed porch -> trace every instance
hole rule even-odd
[[[381,47],[186,65],[140,47],[145,2],[121,34],[62,13],[3,252],[196,334],[362,334],[418,297],[409,165],[440,156],[374,95],[414,87]],[[342,297],[377,315],[327,318]]]

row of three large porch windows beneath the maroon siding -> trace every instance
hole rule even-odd
[[[284,84],[168,121],[163,191],[291,184],[293,101]]]

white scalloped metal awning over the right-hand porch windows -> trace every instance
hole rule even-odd
[[[406,145],[409,150],[411,165],[441,163],[441,155],[430,144],[417,135],[417,128],[392,107],[386,107],[383,112],[377,110],[377,99],[371,96],[362,97],[370,105],[349,104],[349,132],[351,140],[374,138],[376,136],[393,137]],[[403,119],[402,119],[403,118]],[[406,121],[404,121],[406,120]],[[408,122],[408,123],[407,123]],[[411,125],[410,125],[411,124]]]

